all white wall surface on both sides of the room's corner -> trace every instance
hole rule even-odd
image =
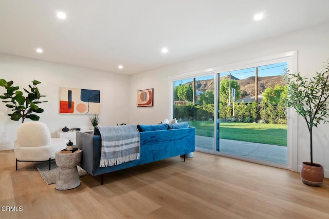
[[[170,116],[169,77],[172,75],[294,50],[298,50],[301,74],[313,75],[329,58],[328,38],[329,24],[323,24],[132,76],[0,54],[0,78],[12,80],[20,87],[28,87],[33,79],[42,82],[38,87],[42,94],[47,95],[48,103],[40,105],[45,110],[40,114],[40,121],[48,125],[52,137],[55,137],[56,131],[64,126],[91,127],[86,115],[59,114],[60,87],[101,90],[100,125],[155,124]],[[154,107],[136,107],[136,91],[148,88],[154,88]],[[0,90],[4,92],[3,87]],[[0,150],[12,147],[20,125],[20,122],[11,121],[7,112],[5,104],[0,102],[0,132],[6,134],[5,137],[0,135]],[[324,165],[325,177],[329,177],[328,131],[329,125],[325,124],[314,133],[314,162]],[[299,164],[309,161],[308,133],[301,119],[298,122],[298,153],[294,156],[298,156]]]

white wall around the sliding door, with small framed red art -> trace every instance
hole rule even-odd
[[[191,61],[166,66],[131,76],[130,122],[155,124],[169,118],[169,76],[184,74],[212,67],[248,61],[298,50],[298,70],[302,75],[312,76],[321,71],[329,58],[329,24],[293,32],[284,36],[255,42],[228,51],[218,52]],[[170,54],[168,54],[170,55]],[[154,107],[137,108],[136,90],[154,88]],[[309,161],[309,140],[304,121],[298,120],[298,164]],[[297,121],[295,122],[297,123]],[[329,177],[329,125],[321,125],[314,133],[314,162],[324,165],[325,177]],[[296,167],[297,169],[297,167]]]

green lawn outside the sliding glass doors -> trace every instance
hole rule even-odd
[[[212,121],[189,121],[196,135],[214,136]],[[287,146],[287,125],[258,123],[220,123],[220,138]]]

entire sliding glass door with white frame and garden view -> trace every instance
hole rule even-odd
[[[296,71],[296,54],[174,76],[171,116],[196,128],[196,150],[296,170],[296,115],[283,105],[283,74]]]

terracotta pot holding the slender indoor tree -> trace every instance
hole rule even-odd
[[[310,162],[302,163],[300,178],[304,184],[319,187],[323,183],[323,177],[323,166],[321,164],[313,163],[313,165],[310,165]]]

